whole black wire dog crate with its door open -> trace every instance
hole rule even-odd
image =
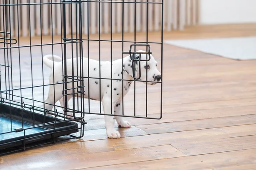
[[[129,11],[134,14],[127,17]],[[0,155],[82,138],[87,114],[162,118],[163,0],[1,0],[0,18]],[[149,35],[149,20],[161,28],[153,33],[157,38]],[[44,64],[47,54],[52,69]],[[161,80],[151,75],[151,54],[161,59]],[[60,56],[60,64],[53,55]],[[132,79],[124,78],[125,57]],[[90,59],[99,62],[89,65]],[[116,59],[122,63],[113,66]],[[110,68],[102,67],[105,61]],[[91,74],[92,66],[98,76]],[[120,73],[113,71],[116,67]],[[108,71],[109,77],[102,76]],[[124,87],[120,94],[115,83]],[[116,104],[121,114],[113,112],[112,104],[111,113],[103,113],[102,86],[111,89],[110,103],[121,96]],[[92,97],[95,91],[98,101]]]

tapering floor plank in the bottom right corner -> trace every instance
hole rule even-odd
[[[256,149],[117,164],[88,170],[255,170]]]

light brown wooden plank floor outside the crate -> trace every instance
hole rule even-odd
[[[151,34],[154,37],[154,34]],[[256,24],[195,26],[164,39],[256,36]],[[163,118],[128,118],[121,139],[103,119],[80,140],[0,157],[1,170],[255,170],[256,60],[164,45]]]

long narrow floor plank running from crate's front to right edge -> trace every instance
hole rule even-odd
[[[86,148],[87,153],[107,152],[113,150],[126,150],[140,147],[152,147],[181,142],[196,142],[201,140],[224,139],[239,136],[256,135],[256,125],[241,125],[233,127],[218,127],[202,130],[190,130],[173,133],[159,133],[144,136],[131,136],[121,139],[103,139],[96,141],[77,140],[47,146],[49,152],[55,150],[72,150]],[[74,144],[72,144],[74,143]],[[27,151],[28,153],[28,151]]]

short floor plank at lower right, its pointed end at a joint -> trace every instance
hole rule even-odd
[[[198,140],[191,142],[172,143],[174,147],[186,155],[201,155],[208,153],[227,152],[256,148],[256,135],[233,137],[225,139]]]

